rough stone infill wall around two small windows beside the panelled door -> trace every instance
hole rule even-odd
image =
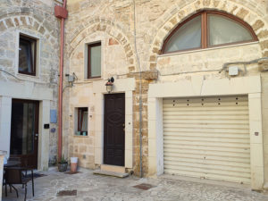
[[[78,156],[80,159],[80,166],[87,168],[95,167],[95,153],[94,153],[94,140],[96,135],[96,130],[94,125],[96,123],[96,107],[94,93],[92,91],[93,82],[87,80],[85,76],[85,68],[88,64],[87,54],[85,50],[87,49],[88,43],[102,41],[102,66],[103,66],[103,79],[107,80],[114,75],[124,75],[128,73],[128,68],[125,68],[127,65],[126,62],[126,49],[121,46],[119,39],[114,38],[110,34],[105,33],[102,29],[97,29],[94,25],[93,28],[96,30],[87,29],[85,30],[88,34],[85,38],[81,38],[80,43],[75,46],[73,52],[70,56],[70,68],[69,72],[75,72],[77,80],[72,88],[66,89],[64,96],[70,96],[69,101],[70,105],[68,107],[69,114],[64,115],[69,122],[69,127],[64,126],[64,138],[68,140],[68,147],[65,146],[64,150],[69,152],[70,156]],[[88,31],[89,30],[89,31]],[[83,34],[83,33],[82,33]],[[89,118],[88,118],[88,136],[81,137],[75,136],[77,131],[77,108],[78,107],[88,107]],[[65,111],[67,113],[67,111]]]

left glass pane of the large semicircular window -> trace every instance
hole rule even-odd
[[[201,47],[201,16],[186,22],[170,38],[164,53]]]

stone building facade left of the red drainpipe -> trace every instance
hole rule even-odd
[[[54,130],[57,125],[56,121],[50,121],[50,111],[57,110],[58,98],[60,22],[54,17],[55,4],[61,4],[61,1],[0,2],[0,149],[7,151],[9,156],[28,155],[34,149],[39,170],[47,170],[49,159],[54,160],[57,153],[57,131]],[[22,44],[22,38],[35,41],[36,45],[31,46],[36,54],[35,74],[22,73],[25,69],[20,69],[27,65],[25,63],[29,64],[21,54],[26,46]],[[34,103],[37,103],[34,113],[38,116],[31,118]],[[23,124],[16,121],[16,117],[21,118],[19,121]],[[27,119],[32,122],[26,122]],[[14,121],[21,127],[16,127]],[[25,137],[29,139],[28,144],[24,137],[23,140],[16,137],[20,130],[26,133],[25,130],[32,129],[34,121],[38,121],[35,133],[32,133],[35,137]],[[45,128],[44,124],[50,124],[50,128]],[[35,142],[30,141],[32,138]],[[10,151],[10,147],[16,151]]]

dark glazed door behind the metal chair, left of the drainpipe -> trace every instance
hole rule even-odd
[[[38,168],[38,116],[38,101],[13,99],[10,154],[32,168]]]

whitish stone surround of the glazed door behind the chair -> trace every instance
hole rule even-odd
[[[53,100],[53,89],[38,87],[32,82],[0,81],[0,150],[10,153],[12,99],[39,101],[38,133],[38,170],[48,169],[49,129],[44,124],[50,122],[50,101]]]

